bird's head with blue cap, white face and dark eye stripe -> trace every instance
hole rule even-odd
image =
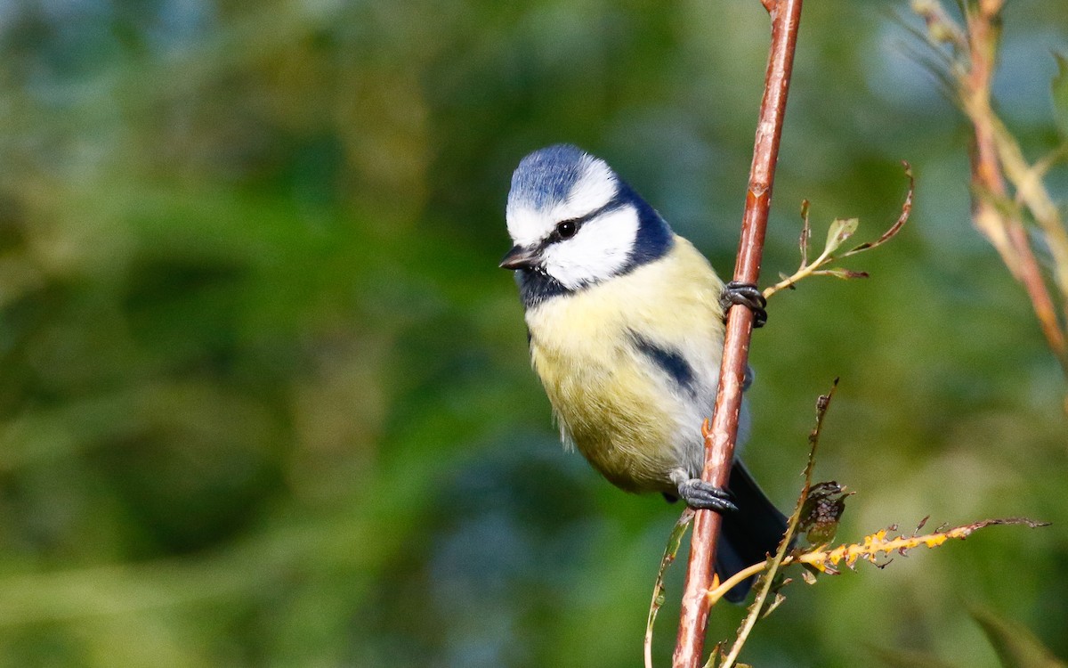
[[[506,218],[515,246],[501,267],[519,273],[528,306],[626,274],[672,244],[668,223],[604,160],[568,144],[519,162]]]

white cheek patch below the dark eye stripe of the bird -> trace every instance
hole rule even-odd
[[[546,271],[568,290],[615,276],[630,261],[638,224],[633,206],[588,220],[578,234],[546,249]]]

